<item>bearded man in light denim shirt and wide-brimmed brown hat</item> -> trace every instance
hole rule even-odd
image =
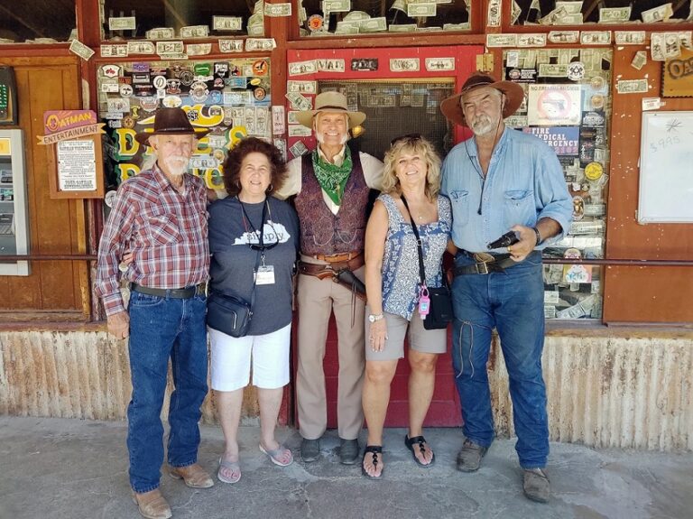
[[[477,72],[440,104],[444,116],[474,134],[448,153],[441,192],[452,203],[458,249],[452,357],[466,438],[457,468],[479,468],[494,439],[486,361],[495,328],[510,377],[522,488],[530,499],[546,502],[541,249],[568,230],[572,206],[556,154],[540,139],[504,125],[523,97],[520,85]],[[512,239],[491,244],[506,233]]]

